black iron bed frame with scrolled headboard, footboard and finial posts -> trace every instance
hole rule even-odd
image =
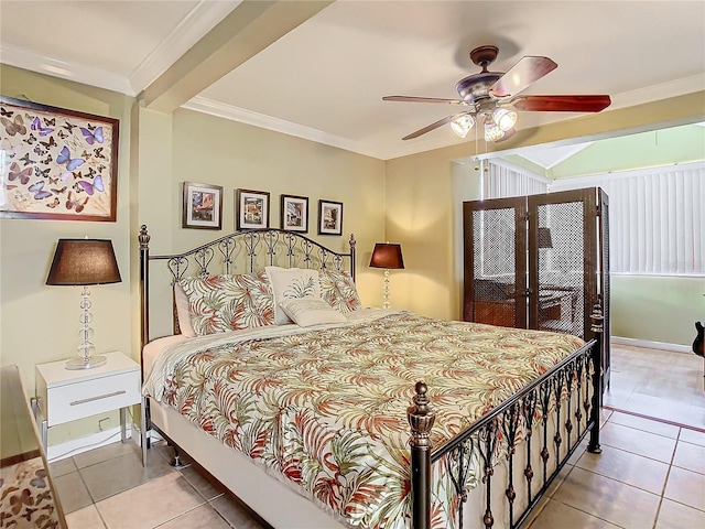
[[[141,347],[150,342],[149,319],[149,288],[150,262],[166,261],[172,281],[176,282],[185,277],[192,263],[197,274],[210,273],[208,267],[217,255],[221,258],[225,272],[242,273],[236,271],[234,259],[243,253],[249,264],[246,272],[252,272],[256,264],[273,266],[278,262],[285,263],[289,268],[336,269],[344,268],[348,260],[349,271],[355,279],[356,240],[349,239],[349,252],[339,252],[297,233],[285,231],[275,228],[262,230],[242,230],[220,237],[183,253],[150,256],[150,235],[147,226],[142,225],[139,235],[140,251],[140,300],[141,300]],[[263,250],[263,255],[261,253]],[[282,255],[283,253],[283,255]],[[173,283],[172,283],[173,284]],[[178,319],[175,301],[173,309],[173,333],[178,334]],[[503,486],[502,496],[506,498],[510,529],[518,528],[529,516],[531,510],[541,499],[553,478],[566,464],[571,455],[579,446],[581,442],[589,434],[587,451],[600,453],[599,444],[599,409],[603,395],[601,358],[603,358],[603,313],[599,302],[590,314],[594,338],[586,345],[575,350],[563,361],[544,373],[534,381],[525,386],[512,397],[486,413],[471,427],[441,446],[434,447],[431,443],[431,429],[435,421],[435,412],[427,396],[429,388],[423,380],[415,385],[413,402],[406,410],[406,419],[410,424],[410,461],[411,461],[411,495],[412,495],[412,527],[413,529],[431,529],[431,468],[441,460],[445,460],[446,469],[449,472],[455,492],[459,498],[457,501],[458,527],[463,528],[463,504],[467,500],[466,485],[470,478],[470,460],[479,453],[481,484],[485,487],[485,511],[480,523],[490,529],[495,523],[492,511],[492,484],[495,467],[501,457],[506,457],[508,464],[507,483]],[[142,358],[143,360],[143,358]],[[583,380],[586,380],[583,384]],[[566,398],[567,395],[567,398]],[[573,401],[575,408],[573,409]],[[561,423],[561,413],[565,408],[564,420]],[[556,428],[551,431],[549,413],[555,413]],[[142,446],[149,447],[149,430],[156,427],[150,423],[149,399],[142,404]],[[523,427],[523,428],[522,428]],[[575,436],[573,436],[575,430]],[[160,433],[162,433],[160,431]],[[532,466],[531,444],[533,435],[540,434],[541,443],[540,468],[534,471]],[[565,435],[565,440],[564,440]],[[175,450],[178,462],[178,446],[167,439]],[[566,443],[564,454],[561,456],[561,445]],[[517,446],[525,443],[525,461],[518,463]],[[498,450],[503,446],[503,452]],[[500,455],[501,454],[501,455]],[[555,462],[551,462],[551,458]],[[147,452],[143,451],[143,463]],[[552,465],[550,465],[550,462]],[[514,512],[517,499],[514,466],[523,464],[520,475],[525,482],[527,498],[525,508]],[[534,487],[534,478],[539,474],[539,484]],[[532,493],[532,487],[534,492]],[[473,525],[473,527],[476,527]]]

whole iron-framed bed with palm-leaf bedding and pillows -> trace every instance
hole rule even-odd
[[[139,242],[144,462],[155,431],[265,526],[516,528],[585,439],[600,451],[599,306],[584,342],[365,309],[354,237]]]

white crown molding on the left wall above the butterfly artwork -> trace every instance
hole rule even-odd
[[[40,55],[10,44],[2,45],[0,63],[39,74],[73,80],[74,83],[83,83],[84,85],[105,88],[106,90],[119,91],[128,96],[137,95],[129,79],[122,75],[91,66],[65,63],[64,61]]]

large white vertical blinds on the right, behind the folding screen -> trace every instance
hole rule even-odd
[[[705,274],[705,163],[556,180],[609,197],[612,272]]]

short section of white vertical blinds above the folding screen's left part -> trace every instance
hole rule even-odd
[[[550,180],[507,162],[482,162],[482,198],[505,198],[546,193]]]

